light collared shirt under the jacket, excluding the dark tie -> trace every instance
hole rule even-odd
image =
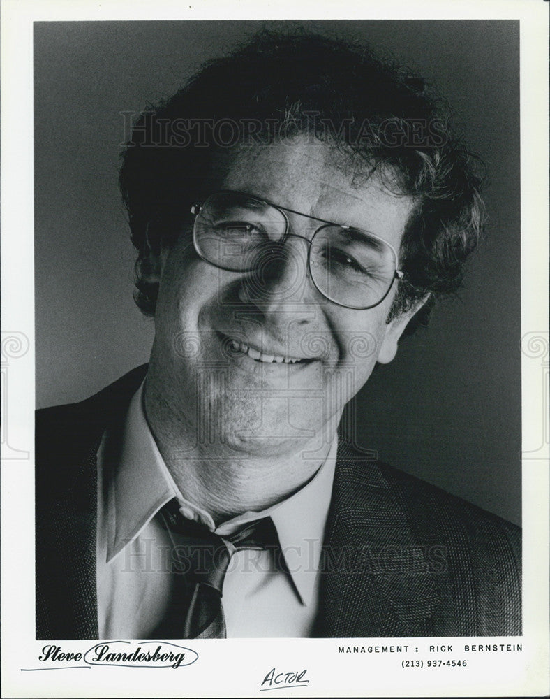
[[[318,608],[318,563],[336,465],[334,440],[325,463],[302,489],[262,512],[246,512],[216,528],[188,502],[158,452],[142,408],[143,384],[133,396],[121,449],[110,456],[105,434],[98,452],[97,592],[100,638],[147,638],[170,614],[172,542],[156,514],[177,498],[181,514],[228,535],[270,516],[287,570],[268,551],[232,556],[223,582],[228,637],[308,637]],[[183,626],[183,620],[182,620]]]

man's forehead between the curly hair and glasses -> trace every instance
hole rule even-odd
[[[213,189],[235,189],[326,221],[375,233],[399,247],[414,206],[365,164],[307,136],[216,157]]]

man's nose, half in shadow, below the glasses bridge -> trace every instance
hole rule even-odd
[[[239,298],[269,313],[311,315],[318,304],[308,269],[309,240],[288,233],[282,243],[270,245],[260,253],[255,271],[241,282]]]

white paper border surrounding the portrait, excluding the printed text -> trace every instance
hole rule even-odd
[[[272,667],[307,668],[309,686],[295,696],[528,696],[549,691],[549,436],[548,397],[548,10],[530,0],[453,3],[284,1],[179,2],[4,0],[1,7],[1,284],[3,439],[2,677],[3,696],[149,697],[262,696]],[[142,668],[74,668],[31,672],[44,642],[34,632],[34,221],[33,22],[48,20],[200,19],[511,19],[521,47],[521,336],[523,444],[523,636],[484,639],[520,643],[521,653],[468,656],[468,668],[401,668],[399,655],[340,655],[329,639],[192,642],[200,662],[178,672]],[[6,340],[6,341],[5,341]],[[10,361],[8,361],[10,359]],[[17,359],[17,361],[15,361]],[[13,360],[13,361],[12,361]],[[8,372],[9,365],[9,372]],[[8,376],[9,374],[9,376]],[[6,378],[7,377],[7,378]],[[6,386],[9,380],[9,414]],[[542,412],[542,415],[541,415]],[[542,419],[541,419],[542,418]],[[9,425],[9,443],[6,438]],[[542,427],[541,427],[542,426]],[[13,450],[20,452],[13,453]],[[466,639],[399,639],[424,647]],[[381,644],[374,639],[354,645]],[[84,651],[90,642],[70,642]],[[346,644],[347,645],[347,644]],[[458,658],[458,655],[454,655]],[[264,672],[265,670],[265,672]],[[289,696],[291,691],[289,691]]]

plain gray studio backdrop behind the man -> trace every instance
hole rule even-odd
[[[133,248],[117,189],[121,112],[169,96],[263,24],[35,24],[38,408],[86,398],[148,359],[153,324],[133,303]],[[357,441],[519,522],[519,26],[300,24],[364,38],[436,82],[491,180],[486,240],[466,288],[373,374],[357,398]]]

